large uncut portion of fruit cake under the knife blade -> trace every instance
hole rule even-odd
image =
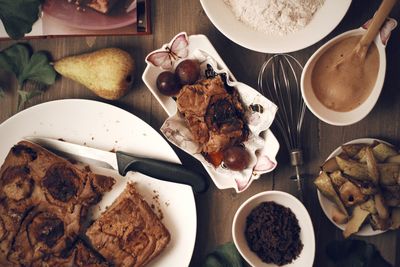
[[[13,146],[0,168],[0,266],[31,266],[68,251],[89,208],[114,183],[36,144]]]

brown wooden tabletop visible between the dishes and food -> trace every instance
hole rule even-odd
[[[339,26],[319,43],[293,53],[301,63],[323,43],[337,34],[359,27],[372,17],[380,1],[353,0],[353,3]],[[103,47],[120,47],[131,53],[136,59],[136,81],[128,95],[113,105],[137,115],[155,129],[159,129],[166,119],[166,113],[151,95],[141,80],[145,68],[144,57],[150,51],[168,42],[176,33],[186,31],[188,34],[205,34],[220,53],[236,78],[257,88],[257,75],[265,55],[245,49],[223,36],[209,21],[199,1],[174,0],[153,1],[152,4],[153,34],[149,36],[110,36],[87,39],[85,37],[34,39],[29,42],[35,51],[47,50],[54,59],[67,55],[92,51]],[[392,17],[400,18],[400,5],[392,12]],[[319,121],[310,112],[306,114],[303,135],[305,151],[304,171],[315,177],[319,165],[330,152],[343,142],[361,138],[376,137],[400,147],[400,30],[392,33],[387,46],[387,73],[385,86],[379,101],[372,112],[362,121],[352,126],[335,127]],[[1,41],[3,49],[14,41]],[[91,45],[93,43],[93,45]],[[0,71],[0,82],[6,88],[16,88],[16,81]],[[85,98],[104,101],[81,85],[59,78],[55,85],[27,103],[26,108],[38,103],[63,98]],[[7,90],[0,99],[0,123],[16,113],[16,90]],[[262,176],[249,189],[241,194],[233,190],[218,190],[213,184],[207,193],[196,196],[198,232],[191,266],[200,266],[205,255],[218,244],[232,240],[231,224],[234,213],[241,203],[250,196],[265,190],[282,190],[296,194],[296,184],[289,181],[293,174],[288,161],[288,151],[283,145],[278,154],[278,168],[271,174]],[[186,166],[202,169],[201,165],[187,154],[175,149]],[[203,170],[205,174],[205,171]],[[324,215],[318,203],[313,179],[307,179],[305,185],[307,207],[315,230],[316,255],[314,266],[332,266],[325,254],[325,246],[334,239],[342,239],[339,231]],[[360,238],[360,237],[357,237]],[[360,238],[377,246],[382,255],[394,266],[400,266],[400,232],[389,231],[379,236]],[[178,266],[178,265],[177,265]]]

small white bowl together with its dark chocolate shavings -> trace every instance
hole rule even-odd
[[[233,241],[242,257],[257,267],[312,266],[314,229],[304,205],[282,191],[265,191],[236,211]]]

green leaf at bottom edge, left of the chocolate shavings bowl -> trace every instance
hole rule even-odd
[[[207,255],[203,267],[243,267],[243,259],[232,242]]]

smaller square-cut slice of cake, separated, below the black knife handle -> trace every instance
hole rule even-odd
[[[133,184],[105,211],[86,235],[115,266],[144,266],[160,254],[170,234]]]

